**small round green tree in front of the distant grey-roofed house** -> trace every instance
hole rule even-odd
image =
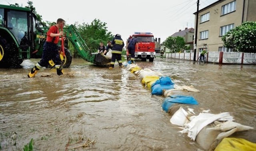
[[[177,37],[172,37],[169,36],[164,42],[163,45],[166,46],[166,48],[170,49],[171,52],[180,52],[181,49],[184,48],[186,42],[184,38],[177,36]]]

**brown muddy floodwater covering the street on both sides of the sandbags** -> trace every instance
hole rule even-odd
[[[124,68],[100,68],[74,59],[65,74],[43,69],[26,76],[38,60],[20,69],[0,69],[0,145],[23,150],[65,150],[94,140],[91,150],[202,149],[170,123],[162,110],[164,97],[151,95],[139,77]],[[178,85],[194,85],[199,113],[230,112],[236,122],[254,127],[232,137],[256,142],[256,66],[196,64],[181,60],[136,62],[141,68],[170,76]],[[12,139],[12,137],[14,138]],[[79,139],[84,139],[79,141]],[[78,149],[82,149],[81,147]]]

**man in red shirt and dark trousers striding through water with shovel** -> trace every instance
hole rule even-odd
[[[65,24],[65,20],[59,18],[57,20],[57,24],[55,26],[51,26],[47,32],[46,42],[43,46],[43,54],[41,60],[32,68],[28,77],[34,77],[38,70],[42,67],[46,67],[49,64],[49,61],[52,60],[55,63],[55,68],[57,70],[57,74],[60,76],[63,74],[62,70],[60,70],[60,54],[58,52],[58,42],[61,41],[60,36],[64,35],[64,32],[59,32],[59,28],[63,27]],[[65,37],[63,37],[65,40]]]

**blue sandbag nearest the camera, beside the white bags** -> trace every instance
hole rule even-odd
[[[168,112],[174,103],[198,105],[198,102],[192,96],[170,95],[164,99],[162,109]]]

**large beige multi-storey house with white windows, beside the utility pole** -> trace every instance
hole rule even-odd
[[[223,46],[221,37],[242,22],[256,21],[255,9],[256,0],[218,0],[199,10],[196,52],[204,48],[209,52],[231,52]]]

